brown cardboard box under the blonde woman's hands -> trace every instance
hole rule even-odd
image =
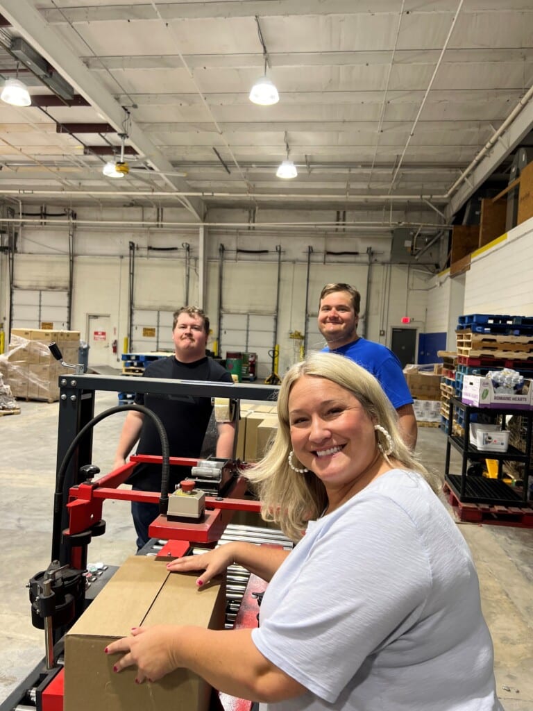
[[[65,636],[64,711],[208,711],[210,685],[189,670],[139,685],[134,667],[114,673],[118,657],[104,654],[141,624],[224,629],[225,584],[200,592],[196,577],[170,574],[154,557],[126,560]]]

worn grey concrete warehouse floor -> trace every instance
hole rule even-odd
[[[116,404],[115,393],[98,393],[97,412]],[[0,417],[0,700],[44,655],[44,634],[31,626],[26,584],[50,562],[55,485],[58,403],[18,405],[20,415]],[[95,427],[93,464],[102,474],[112,467],[125,415],[119,413]],[[441,429],[419,429],[418,451],[426,465],[442,470],[445,446]],[[453,451],[452,471],[460,471],[458,461]],[[107,501],[104,518],[107,533],[92,541],[89,560],[120,565],[135,553],[129,504]],[[533,529],[458,525],[478,566],[483,609],[495,645],[498,695],[506,711],[532,711]]]

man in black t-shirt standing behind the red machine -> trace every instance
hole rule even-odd
[[[205,355],[208,342],[209,319],[195,306],[183,306],[174,313],[172,338],[174,355],[150,363],[144,370],[145,378],[169,378],[178,380],[208,380],[232,383],[230,373]],[[135,402],[145,405],[163,422],[168,436],[171,456],[200,456],[205,430],[212,412],[210,397],[192,395],[149,395],[138,393]],[[229,459],[233,454],[235,424],[217,424],[218,439],[216,456]],[[119,438],[114,468],[126,463],[134,444],[139,440],[137,454],[161,455],[161,440],[151,417],[130,410]],[[171,466],[168,491],[190,475],[190,468]],[[137,464],[128,480],[132,488],[140,491],[161,491],[161,464]],[[131,502],[131,515],[137,532],[137,547],[149,540],[148,527],[157,518],[158,505]]]

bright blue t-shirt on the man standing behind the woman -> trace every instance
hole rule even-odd
[[[367,341],[366,338],[357,338],[357,341],[348,343],[340,348],[323,348],[324,353],[340,353],[350,358],[357,365],[372,373],[379,380],[385,395],[392,402],[394,410],[402,405],[411,405],[413,397],[405,380],[402,365],[389,348],[381,343]]]

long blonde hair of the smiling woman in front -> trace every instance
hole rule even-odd
[[[264,458],[244,471],[262,502],[264,520],[278,523],[285,535],[297,541],[303,535],[307,522],[318,518],[328,503],[321,480],[312,471],[294,471],[288,461],[292,449],[289,395],[296,380],[303,375],[325,378],[351,392],[368,417],[375,424],[382,425],[392,437],[392,452],[388,456],[392,466],[418,472],[435,493],[441,493],[440,476],[430,473],[404,444],[397,426],[396,411],[376,378],[344,355],[311,353],[301,363],[293,365],[284,376],[278,395],[279,427],[274,440]],[[376,437],[387,450],[389,447],[383,434],[376,432]],[[296,457],[293,457],[293,463],[303,469]]]

